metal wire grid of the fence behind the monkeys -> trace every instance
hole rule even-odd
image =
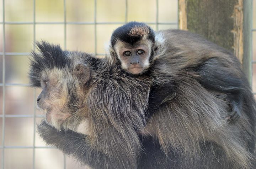
[[[26,52],[5,52],[5,25],[6,24],[32,24],[33,25],[33,42],[36,42],[36,25],[37,24],[62,24],[64,25],[64,48],[66,49],[66,25],[67,24],[74,24],[74,25],[94,25],[94,38],[95,38],[95,48],[94,53],[96,55],[104,55],[104,53],[97,53],[97,33],[96,33],[96,25],[103,24],[125,24],[127,23],[127,12],[128,12],[128,0],[125,1],[126,3],[126,9],[125,9],[125,22],[96,22],[96,10],[97,10],[97,0],[94,0],[94,22],[66,22],[66,0],[64,1],[64,22],[36,22],[36,0],[33,0],[33,22],[5,22],[5,0],[2,1],[3,11],[2,11],[2,30],[3,30],[3,39],[2,39],[2,51],[0,52],[0,55],[2,55],[2,83],[0,83],[0,86],[2,87],[2,115],[0,115],[0,118],[2,118],[2,145],[0,146],[0,149],[2,151],[2,164],[1,168],[4,169],[5,166],[5,152],[4,150],[7,148],[32,148],[33,149],[33,169],[35,168],[35,148],[53,148],[53,147],[45,147],[45,146],[35,146],[35,134],[36,134],[36,118],[42,117],[41,115],[36,115],[36,91],[34,89],[33,97],[34,97],[34,114],[33,115],[6,115],[5,114],[5,99],[6,99],[6,86],[23,86],[28,87],[28,84],[20,84],[20,83],[6,83],[5,82],[5,59],[6,56],[28,56],[30,53]],[[159,2],[156,0],[156,22],[148,22],[147,24],[156,24],[156,29],[159,29],[159,25],[177,25],[177,22],[169,22],[169,23],[163,23],[158,21],[158,15],[159,15]],[[35,47],[33,47],[35,49]],[[33,131],[33,146],[5,146],[5,118],[33,118],[34,121],[34,131]],[[66,169],[66,157],[64,156],[64,169]]]

